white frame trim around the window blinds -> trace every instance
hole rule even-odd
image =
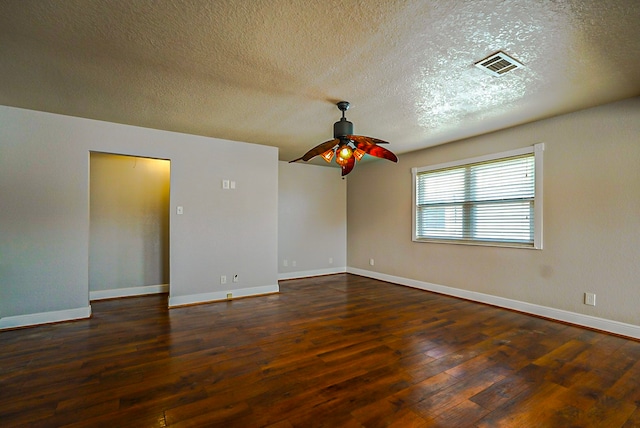
[[[478,156],[474,158],[462,159],[452,162],[446,162],[436,165],[429,165],[424,167],[411,168],[411,185],[412,185],[412,241],[413,242],[426,242],[426,243],[444,243],[444,244],[456,244],[456,245],[477,245],[488,247],[509,247],[509,248],[528,248],[540,250],[543,248],[542,242],[542,225],[543,225],[543,152],[544,143],[537,143],[532,146],[523,147],[520,149],[508,150],[500,153],[493,153],[484,156]],[[424,172],[456,168],[468,166],[471,164],[500,161],[502,159],[523,156],[533,154],[535,173],[534,173],[534,197],[533,197],[533,243],[525,244],[509,241],[482,241],[471,239],[447,239],[447,238],[425,238],[417,236],[417,188],[418,188],[418,175]],[[465,188],[465,191],[468,190]]]

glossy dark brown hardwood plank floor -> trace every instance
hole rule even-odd
[[[637,427],[640,342],[358,276],[0,333],[0,425]]]

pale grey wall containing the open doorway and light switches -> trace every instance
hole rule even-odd
[[[88,315],[90,151],[171,160],[170,304],[278,289],[276,148],[0,107],[0,328]]]

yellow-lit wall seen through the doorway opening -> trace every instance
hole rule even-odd
[[[169,283],[171,163],[90,155],[89,291]]]

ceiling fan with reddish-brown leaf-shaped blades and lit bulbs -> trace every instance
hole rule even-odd
[[[333,124],[333,140],[317,145],[304,156],[289,161],[289,163],[299,160],[307,162],[318,155],[321,155],[322,159],[329,163],[335,157],[336,163],[342,168],[342,176],[344,177],[353,170],[356,160],[359,161],[365,154],[398,162],[396,155],[378,145],[389,144],[386,141],[363,135],[353,135],[353,123],[344,117],[344,112],[349,109],[348,101],[340,101],[336,105],[342,112],[342,118]]]

